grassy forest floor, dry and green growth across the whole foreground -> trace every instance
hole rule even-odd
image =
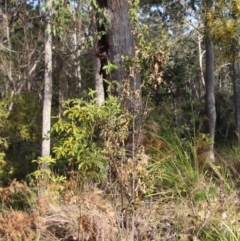
[[[177,157],[162,158],[161,175],[150,173],[160,175],[154,191],[131,200],[117,183],[80,191],[77,179],[52,182],[39,198],[36,185],[13,180],[0,188],[0,240],[239,241],[237,175],[218,165],[191,169]]]

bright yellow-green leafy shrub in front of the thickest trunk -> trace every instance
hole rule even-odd
[[[93,95],[94,92],[90,92],[89,101],[72,99],[64,102],[65,110],[57,117],[52,134],[57,162],[77,168],[83,179],[96,181],[106,176],[106,153],[112,151],[108,148],[112,148],[113,141],[118,147],[119,139],[126,138],[127,130],[124,129],[126,118],[123,118],[125,114],[119,99],[110,96],[98,106]]]

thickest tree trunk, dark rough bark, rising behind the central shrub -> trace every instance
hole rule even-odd
[[[112,89],[112,94],[128,96],[127,108],[134,113],[140,112],[142,108],[140,74],[127,73],[122,60],[122,56],[134,57],[135,55],[135,42],[129,17],[130,4],[127,0],[98,0],[97,2],[100,7],[106,8],[111,20],[111,27],[107,31],[106,38],[103,39],[105,42],[100,42],[100,45],[104,46],[99,46],[99,49],[106,49],[107,60],[118,66],[118,69],[113,70],[111,76],[108,76],[110,81],[114,80],[119,84],[119,88]],[[129,81],[127,90],[124,86],[126,81]]]

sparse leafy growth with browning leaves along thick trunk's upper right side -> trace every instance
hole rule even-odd
[[[168,62],[169,42],[164,33],[160,33],[155,41],[152,40],[148,26],[139,23],[138,13],[139,1],[134,1],[129,14],[133,25],[132,32],[136,37],[135,56],[125,56],[123,59],[130,75],[140,72],[146,92],[151,92],[162,82],[163,69]]]

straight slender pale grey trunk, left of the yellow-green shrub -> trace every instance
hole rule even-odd
[[[52,105],[52,0],[46,0],[46,26],[45,26],[45,75],[44,75],[44,99],[42,116],[42,157],[50,156],[50,128]],[[42,166],[47,168],[47,166]]]

